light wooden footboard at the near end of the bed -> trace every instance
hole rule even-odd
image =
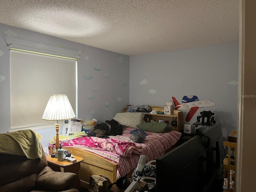
[[[178,142],[177,142],[178,143]],[[177,143],[171,146],[166,152],[174,149],[177,146]],[[81,182],[81,186],[84,188],[89,188],[90,176],[91,175],[99,175],[102,174],[106,176],[111,183],[116,182],[116,175],[117,175],[117,163],[110,162],[96,154],[91,152],[79,149],[79,148],[65,148],[63,149],[68,150],[69,153],[80,156],[84,158],[82,161],[81,168],[79,171],[79,178]],[[50,153],[53,153],[53,148],[50,148]],[[127,176],[131,176],[133,170],[131,170]]]

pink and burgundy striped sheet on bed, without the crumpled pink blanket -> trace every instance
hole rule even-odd
[[[134,129],[135,128],[124,127],[124,132],[122,135],[109,137],[125,142],[132,142],[132,140],[130,140],[130,131]],[[147,157],[146,162],[162,156],[166,152],[166,150],[168,150],[179,140],[181,136],[181,133],[177,131],[170,131],[166,133],[153,133],[147,131],[145,132],[148,134],[148,136],[146,136],[146,139],[143,143],[141,143],[141,145],[143,149],[142,155],[145,155]],[[95,150],[88,147],[79,148],[97,154],[98,156],[105,158],[106,160],[109,160],[111,162],[117,163],[117,178],[120,176],[124,176],[135,167],[137,167],[140,159],[140,155],[138,154],[133,154],[132,157],[123,157],[106,150]]]

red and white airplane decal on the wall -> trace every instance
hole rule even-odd
[[[214,101],[211,101],[210,99],[203,99],[203,100],[187,102],[182,104],[180,104],[175,97],[172,97],[172,100],[175,105],[175,108],[174,108],[175,110],[189,110],[186,116],[186,122],[189,122],[192,119],[192,117],[194,116],[194,114],[199,108],[213,107],[216,105],[216,103]]]

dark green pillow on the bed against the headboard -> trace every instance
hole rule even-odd
[[[164,133],[172,130],[172,127],[166,123],[143,123],[137,125],[139,129],[154,133]]]

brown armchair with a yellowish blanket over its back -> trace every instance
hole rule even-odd
[[[33,136],[31,137],[31,135]],[[0,134],[0,191],[79,192],[74,188],[76,174],[55,172],[48,167],[46,156],[40,144],[40,139],[38,142],[37,135],[32,130]],[[21,142],[21,137],[24,137],[21,146],[14,144],[17,141],[17,143]],[[34,148],[34,144],[39,145],[39,147]],[[14,150],[13,146],[18,149]],[[32,150],[30,150],[31,148]],[[18,154],[15,154],[15,151]],[[41,157],[33,158],[33,152]],[[22,153],[25,155],[22,155]],[[31,159],[31,156],[33,159]]]

